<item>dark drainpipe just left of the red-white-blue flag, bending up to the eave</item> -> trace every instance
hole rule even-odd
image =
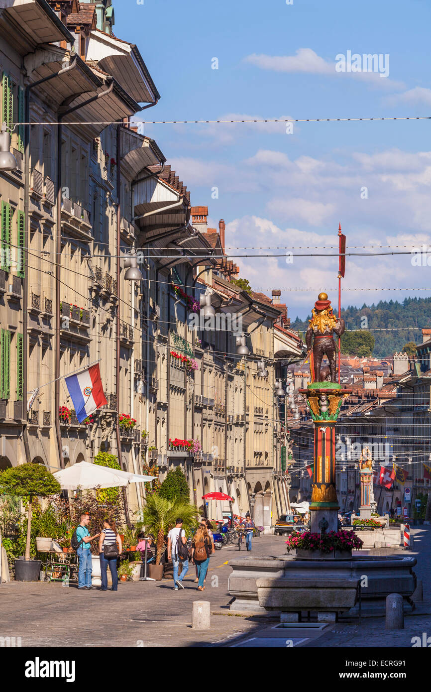
[[[57,320],[57,329],[55,330],[55,404],[54,404],[54,416],[55,416],[55,433],[57,437],[57,448],[60,460],[61,468],[64,468],[63,462],[63,446],[62,446],[62,431],[60,430],[59,424],[59,406],[60,406],[60,335],[59,335],[59,320],[60,320],[60,291],[61,291],[61,251],[62,251],[62,120],[70,113],[74,113],[80,108],[88,105],[93,101],[97,101],[103,96],[111,93],[113,89],[113,80],[106,91],[92,96],[83,103],[69,108],[66,111],[62,111],[58,115],[58,126],[57,126],[57,223],[56,223],[56,264],[55,264],[55,316]]]

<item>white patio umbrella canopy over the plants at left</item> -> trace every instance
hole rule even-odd
[[[56,471],[53,476],[62,486],[62,490],[76,490],[77,488],[92,490],[95,487],[116,488],[129,483],[144,483],[155,480],[154,476],[129,473],[117,468],[89,464],[88,462],[73,464],[69,468],[63,468],[62,471]]]

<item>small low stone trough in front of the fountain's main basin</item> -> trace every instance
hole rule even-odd
[[[353,608],[358,601],[359,580],[354,577],[341,579],[322,579],[316,574],[313,578],[288,579],[261,577],[256,580],[259,606],[265,610],[297,613],[300,620],[301,611],[330,613],[331,617],[319,617],[319,620],[336,620],[339,612]]]

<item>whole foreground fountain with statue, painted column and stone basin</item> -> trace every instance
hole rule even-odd
[[[405,612],[414,608],[410,597],[416,588],[416,575],[412,570],[416,559],[403,555],[352,557],[351,545],[355,547],[360,542],[352,536],[353,532],[338,531],[336,421],[342,399],[351,390],[336,383],[333,333],[341,336],[345,325],[333,315],[327,298],[326,293],[320,293],[313,308],[313,318],[306,332],[313,381],[306,390],[300,390],[306,397],[314,423],[311,531],[289,539],[290,547],[298,544],[295,558],[249,556],[230,561],[233,571],[228,589],[235,597],[230,605],[233,612],[281,613],[285,621],[298,621],[302,611],[308,611],[316,612],[320,620],[335,621],[343,612],[355,615],[360,602],[363,615],[385,614],[385,599],[390,593],[403,596]],[[321,372],[323,356],[329,360],[330,382],[322,381],[327,376]],[[369,511],[370,517],[371,480],[372,467],[366,468],[364,464],[361,468],[362,507]]]

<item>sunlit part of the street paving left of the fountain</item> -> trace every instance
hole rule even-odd
[[[284,538],[253,538],[253,555],[283,554]],[[118,592],[78,592],[75,585],[20,583],[0,586],[0,637],[21,637],[22,646],[205,646],[256,628],[257,619],[229,614],[230,559],[246,556],[233,546],[210,559],[206,588],[196,590],[194,566],[185,590],[173,581],[120,583]],[[210,601],[208,632],[191,628],[192,602]]]

